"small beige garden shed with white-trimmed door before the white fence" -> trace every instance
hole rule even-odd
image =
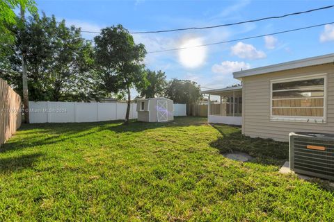
[[[137,100],[138,121],[172,121],[173,110],[173,100],[164,97]]]

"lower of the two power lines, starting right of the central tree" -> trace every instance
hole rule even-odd
[[[324,25],[328,25],[328,24],[334,24],[334,22],[328,22],[328,23],[324,23],[324,24],[317,24],[314,26],[306,26],[303,28],[294,28],[294,29],[289,29],[289,30],[285,30],[285,31],[280,31],[280,32],[276,32],[276,33],[268,33],[268,34],[264,34],[264,35],[255,35],[255,36],[251,36],[251,37],[243,37],[243,38],[239,38],[236,40],[226,40],[223,42],[214,42],[214,43],[208,43],[208,44],[200,44],[197,46],[189,46],[189,47],[181,47],[181,48],[175,48],[175,49],[164,49],[164,50],[157,50],[157,51],[150,51],[148,53],[162,53],[162,52],[166,52],[166,51],[177,51],[177,50],[182,50],[182,49],[191,49],[191,48],[198,48],[198,47],[203,47],[203,46],[212,46],[215,44],[224,44],[224,43],[228,43],[228,42],[237,42],[237,41],[241,41],[241,40],[250,40],[250,39],[255,39],[257,37],[264,37],[267,35],[278,35],[278,34],[283,34],[283,33],[291,33],[294,31],[300,31],[300,30],[304,30],[304,29],[308,29],[308,28],[315,28],[315,27],[319,27],[319,26],[324,26]]]

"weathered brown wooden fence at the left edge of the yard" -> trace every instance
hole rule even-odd
[[[21,97],[0,78],[0,146],[21,126]]]

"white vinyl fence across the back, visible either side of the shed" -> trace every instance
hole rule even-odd
[[[130,119],[137,119],[131,103]],[[125,119],[127,103],[29,102],[31,123],[81,123]],[[174,116],[186,115],[185,104],[174,104]]]

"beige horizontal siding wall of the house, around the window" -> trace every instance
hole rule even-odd
[[[270,120],[271,80],[327,74],[326,123],[298,123]],[[334,133],[334,64],[303,67],[270,74],[248,76],[243,81],[242,132],[250,137],[287,142],[291,132]]]

